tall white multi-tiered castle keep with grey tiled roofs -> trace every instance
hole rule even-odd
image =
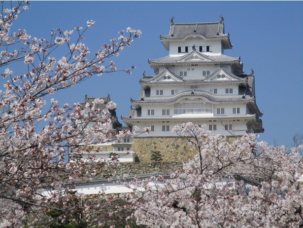
[[[140,133],[149,126],[148,137],[176,136],[171,129],[185,122],[206,124],[213,135],[264,132],[254,72],[243,74],[240,57],[224,55],[233,45],[221,18],[207,23],[171,19],[168,35],[160,36],[169,55],[148,60],[155,75],[143,73],[139,98],[131,99],[129,116],[122,116],[129,127],[139,127]]]

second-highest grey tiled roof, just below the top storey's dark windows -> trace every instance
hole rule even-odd
[[[194,50],[193,50],[194,51]],[[187,54],[186,54],[187,55]],[[239,58],[234,58],[234,57],[230,57],[230,56],[227,56],[227,55],[223,55],[223,54],[209,54],[207,55],[206,52],[203,53],[203,55],[205,55],[205,57],[209,58],[210,60],[208,59],[189,59],[189,60],[180,60],[184,57],[183,56],[166,56],[166,57],[163,57],[161,59],[154,59],[154,60],[151,60],[149,59],[148,60],[148,63],[149,64],[162,64],[162,65],[168,65],[168,64],[185,64],[185,63],[188,63],[188,64],[194,64],[194,63],[235,63],[235,62],[238,62],[240,61]]]

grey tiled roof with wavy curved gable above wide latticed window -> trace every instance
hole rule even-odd
[[[192,91],[185,91],[173,96],[145,97],[145,99],[143,98],[143,100],[131,99],[131,102],[136,104],[172,103],[181,98],[191,97],[191,96],[203,97],[212,102],[243,102],[243,101],[254,100],[254,97],[249,97],[249,96],[243,97],[242,95],[216,95],[205,91],[194,91],[194,94],[192,94]]]

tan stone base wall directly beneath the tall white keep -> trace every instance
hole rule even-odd
[[[151,162],[152,152],[160,151],[164,162],[182,162],[198,153],[181,137],[138,137],[133,138],[132,151],[139,162]]]

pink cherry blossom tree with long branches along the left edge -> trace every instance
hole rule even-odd
[[[51,95],[91,76],[118,71],[111,57],[118,56],[141,32],[127,28],[91,53],[82,40],[94,25],[92,20],[85,28],[51,30],[49,39],[33,38],[25,30],[11,32],[13,22],[29,6],[26,1],[2,2],[0,15],[2,227],[20,226],[26,211],[66,211],[63,220],[81,214],[88,205],[82,205],[64,184],[90,180],[106,162],[84,163],[82,146],[132,134],[109,132],[109,113],[98,108],[102,100],[89,105],[90,114],[84,114],[80,103],[60,107]],[[63,57],[56,57],[58,53]],[[131,74],[133,68],[123,71]],[[115,104],[107,108],[115,109]],[[87,125],[91,120],[94,126]]]

